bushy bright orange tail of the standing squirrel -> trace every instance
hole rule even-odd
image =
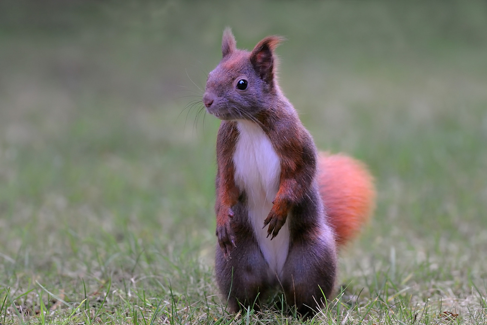
[[[362,162],[343,154],[320,153],[318,170],[319,191],[342,247],[375,208],[374,179]]]

